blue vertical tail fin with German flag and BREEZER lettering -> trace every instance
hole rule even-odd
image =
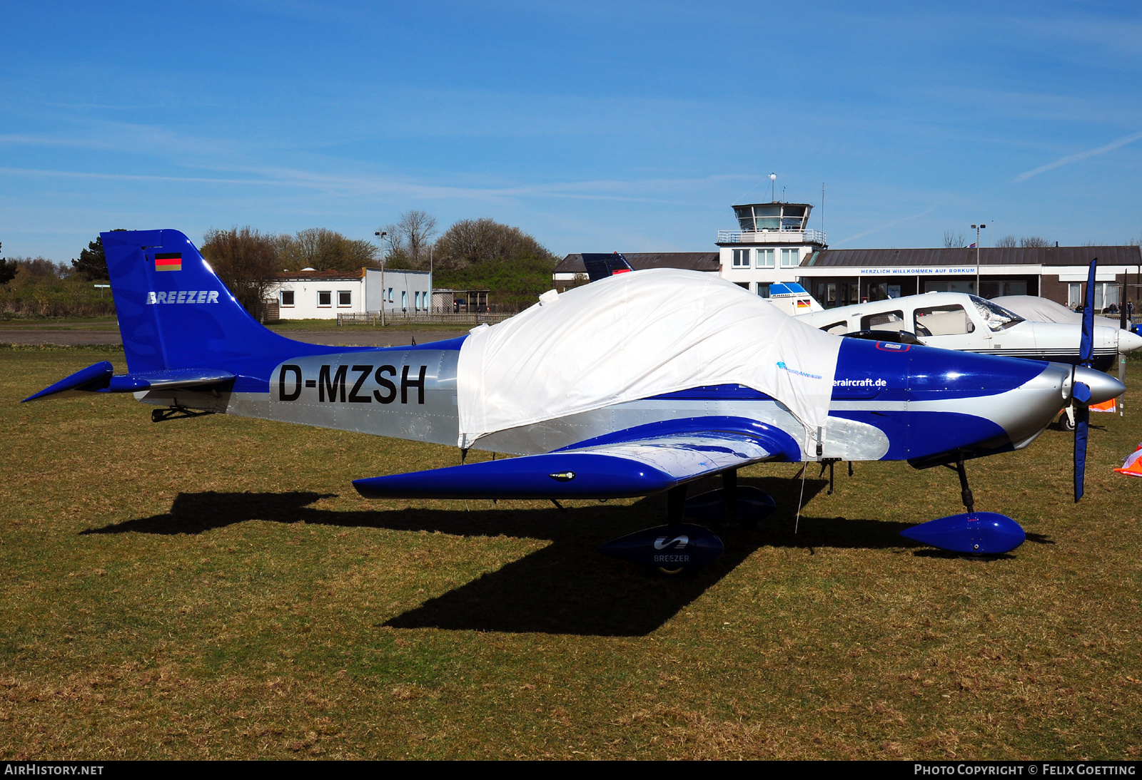
[[[263,327],[178,230],[99,234],[132,374],[296,351]]]

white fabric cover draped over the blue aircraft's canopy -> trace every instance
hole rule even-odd
[[[841,338],[713,274],[619,274],[544,293],[460,349],[460,447],[496,431],[708,384],[743,384],[825,429]]]

